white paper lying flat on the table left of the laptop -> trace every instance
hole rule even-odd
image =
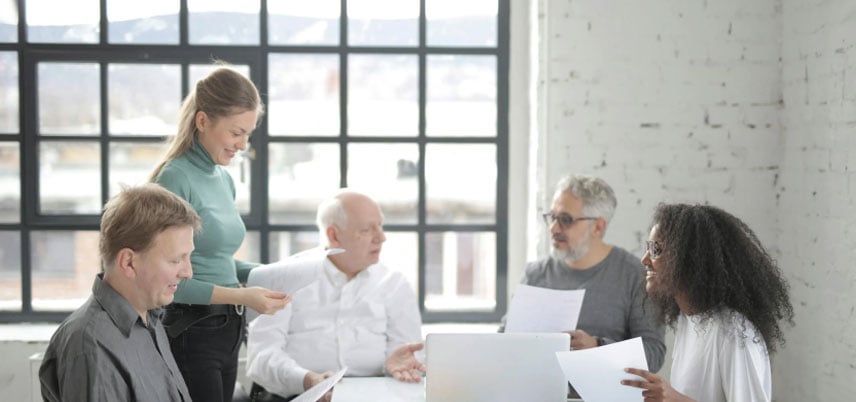
[[[392,377],[347,377],[336,384],[333,402],[425,402],[425,382]]]

